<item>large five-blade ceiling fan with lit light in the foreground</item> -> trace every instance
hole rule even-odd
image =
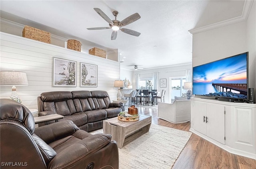
[[[132,14],[131,16],[128,16],[121,22],[116,20],[116,16],[118,15],[117,11],[113,12],[113,15],[115,16],[115,20],[110,20],[108,16],[102,12],[99,8],[93,8],[106,22],[108,22],[110,27],[97,27],[97,28],[87,28],[88,30],[100,30],[100,29],[110,29],[112,28],[112,34],[111,34],[111,40],[115,40],[117,37],[117,31],[120,29],[122,32],[127,33],[129,35],[139,36],[140,32],[122,28],[122,26],[126,26],[128,24],[131,24],[132,22],[135,22],[136,20],[140,19],[140,15],[138,13]]]

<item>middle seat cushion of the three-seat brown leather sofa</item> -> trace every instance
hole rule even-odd
[[[88,123],[106,120],[107,118],[107,112],[103,109],[91,110],[84,113],[86,113],[88,116]]]

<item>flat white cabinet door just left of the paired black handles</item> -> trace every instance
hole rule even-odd
[[[206,103],[191,100],[191,128],[206,135]]]

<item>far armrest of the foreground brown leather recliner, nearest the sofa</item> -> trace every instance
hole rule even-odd
[[[35,134],[47,144],[80,130],[71,120],[64,120],[35,129]]]

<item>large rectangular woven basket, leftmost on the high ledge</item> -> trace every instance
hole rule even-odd
[[[31,26],[25,26],[22,31],[22,37],[41,41],[45,43],[51,43],[51,33],[40,29],[33,28]]]

